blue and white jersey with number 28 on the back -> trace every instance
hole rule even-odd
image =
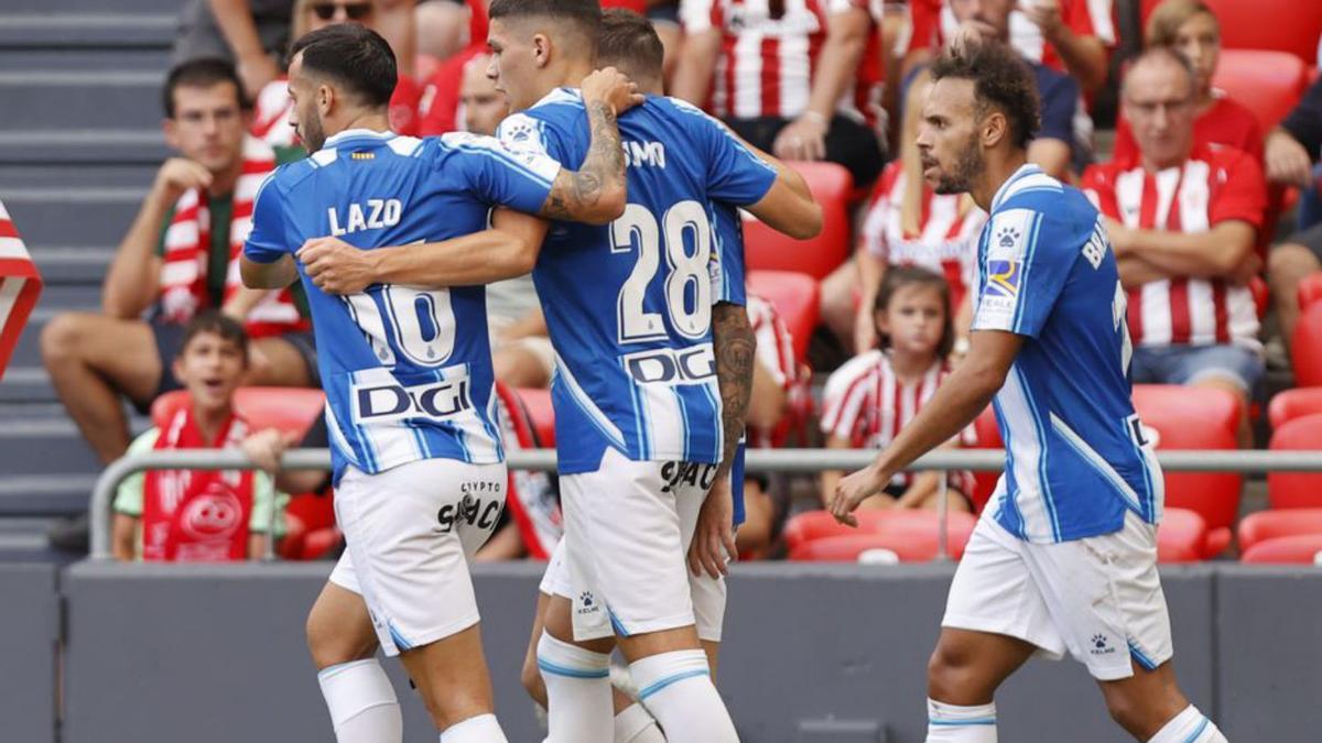
[[[553,405],[562,473],[598,469],[607,447],[636,460],[720,460],[711,346],[713,201],[755,204],[776,172],[722,124],[648,97],[619,119],[628,205],[607,226],[557,222],[533,280],[557,353]],[[576,90],[501,123],[514,148],[566,167],[591,136]],[[571,444],[571,446],[566,446]]]

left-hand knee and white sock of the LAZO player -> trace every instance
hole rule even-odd
[[[403,718],[362,596],[327,583],[308,613],[308,650],[338,743],[399,743]]]

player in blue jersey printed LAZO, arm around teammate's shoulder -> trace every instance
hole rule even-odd
[[[308,617],[323,694],[341,743],[398,742],[379,643],[399,654],[443,743],[504,742],[465,570],[506,483],[483,288],[382,283],[329,296],[293,253],[327,234],[365,249],[464,235],[493,204],[605,222],[623,210],[624,168],[598,153],[575,173],[490,137],[394,135],[394,56],[360,25],[312,32],[291,52],[292,123],[312,155],[259,192],[242,272],[259,288],[301,278],[323,349],[349,547]],[[619,153],[613,111],[633,102],[632,85],[602,73],[583,86],[594,145]]]

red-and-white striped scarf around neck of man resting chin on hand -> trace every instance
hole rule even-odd
[[[243,169],[234,184],[230,221],[230,260],[225,276],[225,301],[243,284],[239,279],[239,255],[253,230],[253,201],[266,176],[275,169],[275,151],[254,137],[243,140]],[[212,247],[212,214],[206,192],[190,189],[175,202],[175,218],[165,231],[165,260],[161,264],[161,313],[167,321],[188,323],[198,309],[210,304],[206,268]],[[250,336],[263,337],[305,331],[307,320],[299,313],[290,290],[274,290],[247,315]]]

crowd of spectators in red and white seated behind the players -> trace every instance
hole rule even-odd
[[[1165,0],[1145,19],[1144,37],[1130,40],[1120,37],[1118,17],[1137,3],[1110,0],[603,5],[653,20],[672,95],[779,157],[836,163],[853,177],[854,250],[820,283],[814,348],[834,345],[836,353],[814,352],[809,368],[795,352],[783,308],[750,293],[759,336],[751,446],[884,446],[966,349],[986,215],[966,196],[935,194],[914,145],[929,89],[925,65],[966,44],[1007,44],[1035,74],[1042,126],[1029,157],[1083,188],[1104,215],[1128,293],[1134,382],[1229,391],[1243,409],[1240,443],[1252,446],[1252,411],[1265,399],[1265,349],[1288,346],[1300,321],[1298,286],[1322,271],[1322,225],[1307,223],[1318,212],[1307,206],[1319,182],[1322,82],[1278,126],[1265,127],[1214,85],[1220,25],[1210,5]],[[399,57],[391,102],[399,134],[490,134],[508,114],[486,77],[485,0],[192,1],[164,91],[163,127],[178,155],[161,164],[120,243],[102,312],[59,316],[42,336],[56,389],[104,461],[130,448],[120,398],[145,410],[171,389],[212,390],[214,379],[198,381],[185,364],[196,337],[185,328],[200,316],[242,324],[250,337],[235,372],[242,383],[317,385],[299,292],[245,290],[230,264],[250,227],[256,184],[279,161],[301,156],[288,126],[280,52],[300,33],[337,22],[378,30]],[[1113,63],[1122,50],[1129,58]],[[1113,137],[1099,131],[1112,122],[1093,120],[1108,90],[1120,100]],[[1288,189],[1303,194],[1303,208],[1281,217],[1273,204]],[[1285,241],[1273,239],[1278,218],[1293,233]],[[488,297],[497,378],[508,387],[502,403],[510,420],[522,420],[527,411],[512,409],[518,397],[509,389],[549,386],[554,353],[530,278],[496,284]],[[1288,372],[1288,357],[1273,364]],[[513,423],[509,431],[521,446],[537,444]],[[304,443],[324,443],[324,430],[317,436],[315,427]],[[160,440],[134,446],[148,438]],[[949,446],[972,442],[969,431]],[[274,467],[293,444],[267,431],[235,446]],[[836,477],[826,472],[812,485],[750,477],[740,550],[775,553],[795,508],[791,490],[826,493]],[[282,479],[287,489],[316,484]],[[940,480],[898,480],[870,505],[932,508]],[[976,508],[966,475],[944,484],[951,508]],[[558,512],[546,505],[554,480],[527,488],[535,493],[516,498],[521,506],[512,510],[541,516],[516,513],[488,557],[541,557],[542,542],[554,539]],[[130,520],[141,517],[141,496],[120,500],[116,551],[130,555]]]

